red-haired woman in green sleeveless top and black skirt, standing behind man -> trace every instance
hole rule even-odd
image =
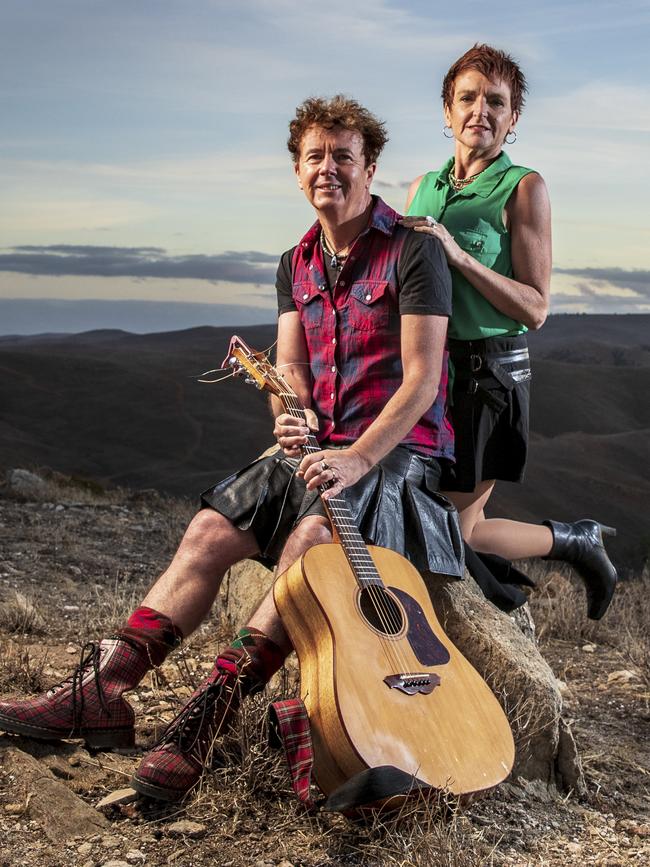
[[[523,524],[488,519],[484,512],[497,479],[523,479],[530,381],[525,332],[544,324],[549,304],[546,185],[502,150],[516,138],[525,92],[519,66],[488,45],[475,45],[452,65],[442,99],[454,155],[440,171],[413,181],[404,222],[442,243],[452,273],[456,467],[447,493],[465,541],[508,560],[572,563],[587,587],[588,615],[598,619],[616,585],[602,543],[602,533],[613,530],[591,520]]]

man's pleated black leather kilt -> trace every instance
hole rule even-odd
[[[317,491],[296,476],[299,461],[280,450],[262,456],[201,494],[201,503],[251,530],[273,568],[287,537],[307,515],[325,515]],[[458,514],[438,492],[441,465],[398,446],[342,496],[366,542],[390,548],[420,572],[462,578],[463,542]]]

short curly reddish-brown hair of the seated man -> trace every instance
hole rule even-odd
[[[303,136],[313,126],[323,129],[341,127],[358,132],[363,139],[366,165],[376,163],[388,141],[386,125],[354,99],[337,93],[331,99],[310,96],[296,109],[289,124],[287,147],[295,163],[300,159]]]

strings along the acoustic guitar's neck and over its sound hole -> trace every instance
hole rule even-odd
[[[292,409],[294,411],[299,412],[300,416],[306,419],[304,408],[298,402],[297,395],[295,395],[295,393],[293,393],[293,391],[291,389],[289,389],[288,384],[284,380],[281,380],[280,383],[278,383],[278,385],[280,385],[280,391],[281,391],[281,394],[279,396],[281,399],[284,398],[283,403],[286,404],[287,409]],[[314,451],[319,451],[320,446],[318,445],[318,442],[316,441],[315,437],[310,435],[309,438],[313,440],[314,444],[313,445],[308,444],[306,447],[303,446],[302,450],[304,450],[305,453],[307,453],[307,454],[313,453]],[[323,493],[326,490],[327,490],[326,486],[319,485],[320,493]],[[358,539],[355,540],[354,544],[356,545],[357,548],[361,547],[363,549],[362,556],[365,555],[365,559],[367,561],[366,564],[362,568],[368,569],[371,571],[371,573],[374,573],[375,576],[377,577],[377,579],[379,580],[379,582],[382,583],[382,585],[383,585],[383,582],[381,582],[381,577],[379,576],[379,573],[377,572],[377,568],[374,564],[374,561],[372,560],[372,557],[370,556],[370,552],[368,551],[368,548],[367,548],[365,542],[363,541],[363,538],[361,537],[361,534],[359,533],[358,528],[354,525],[354,522],[352,520],[347,503],[345,502],[345,500],[341,500],[341,502],[343,503],[343,507],[340,507],[340,506],[337,506],[333,502],[334,499],[335,498],[332,498],[332,499],[326,501],[327,507],[329,507],[329,509],[331,510],[333,517],[335,519],[338,519],[339,524],[341,524],[343,526],[345,524],[345,522],[347,522],[348,524],[350,524],[354,528],[354,531],[356,531],[356,533],[355,532],[351,533],[350,530],[348,529],[347,531],[346,530],[343,531],[343,535],[347,534],[347,535],[352,535],[352,536],[354,536],[354,535],[358,536]],[[336,523],[335,523],[335,526],[336,526]],[[339,528],[337,527],[337,531],[338,530],[339,530]],[[339,533],[339,535],[340,535],[340,533]],[[344,551],[345,550],[346,549],[344,547]],[[355,552],[355,553],[357,553],[357,552]],[[354,559],[354,557],[353,557],[353,559]],[[358,583],[361,584],[364,581],[364,579],[362,579],[361,576],[359,575],[358,567],[355,567],[354,563],[350,563],[350,566],[352,568],[353,574],[357,578]],[[365,580],[368,580],[368,579],[365,579]],[[384,629],[384,632],[388,633],[389,635],[390,634],[396,635],[397,633],[399,633],[401,631],[402,620],[401,620],[401,617],[398,619],[398,614],[396,614],[395,608],[388,605],[388,603],[387,603],[388,593],[387,593],[386,589],[383,586],[377,587],[375,584],[371,584],[371,583],[363,584],[363,586],[364,586],[364,589],[366,589],[368,591],[368,596],[369,596],[370,601],[374,607],[375,613],[377,614],[379,622],[381,623],[381,625]],[[388,597],[388,598],[390,598],[390,597]],[[399,609],[397,609],[397,612],[398,611],[399,611]],[[390,661],[390,657],[392,656],[394,659],[393,664],[397,663],[398,668],[401,668],[401,670],[403,672],[405,672],[407,670],[408,666],[407,666],[407,661],[405,658],[400,659],[400,657],[403,656],[403,654],[400,652],[401,640],[399,638],[394,638],[392,640],[388,640],[384,635],[382,635],[381,641],[384,644],[384,649],[385,649],[386,655],[389,657],[389,661]]]

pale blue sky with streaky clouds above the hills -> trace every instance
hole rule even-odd
[[[650,312],[648,0],[2,0],[0,334],[275,319],[313,212],[287,125],[347,93],[397,209],[451,154],[440,85],[475,42],[530,93],[508,152],[546,180],[552,312]]]

